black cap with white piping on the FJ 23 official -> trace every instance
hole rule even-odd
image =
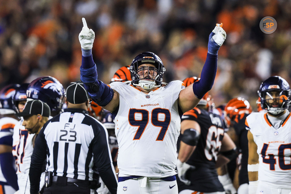
[[[89,93],[82,82],[71,82],[66,93],[68,102],[72,104],[81,104],[89,99]]]

